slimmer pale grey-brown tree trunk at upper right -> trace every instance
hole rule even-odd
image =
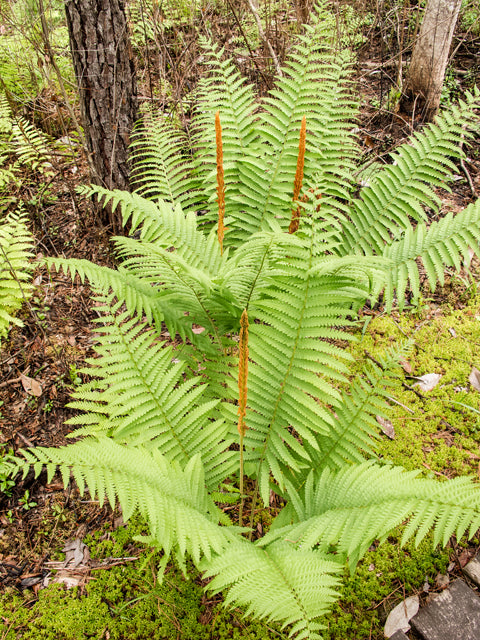
[[[445,69],[462,0],[428,0],[413,47],[402,107],[431,120],[440,105]]]

